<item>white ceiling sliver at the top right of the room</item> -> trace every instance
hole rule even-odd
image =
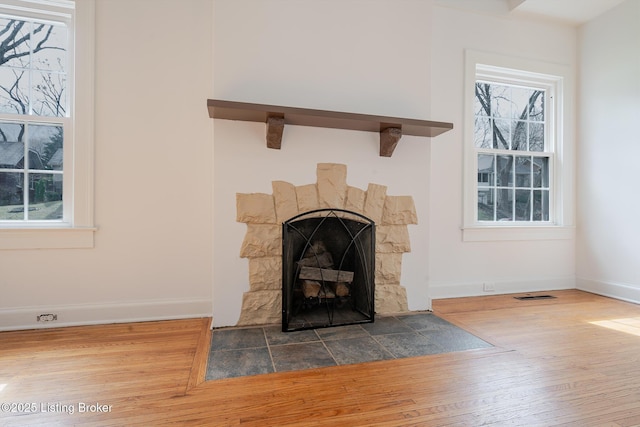
[[[436,3],[493,14],[534,14],[580,25],[625,0],[436,0]]]

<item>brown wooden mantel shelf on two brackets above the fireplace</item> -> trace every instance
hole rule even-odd
[[[402,135],[434,137],[453,129],[452,123],[401,119],[246,102],[207,100],[212,119],[267,124],[267,147],[280,149],[284,125],[314,126],[380,133],[380,156],[391,157]]]

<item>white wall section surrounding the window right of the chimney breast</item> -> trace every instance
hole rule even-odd
[[[561,64],[575,74],[575,28],[441,6],[434,8],[432,22],[431,111],[453,121],[454,130],[438,138],[431,153],[431,297],[481,295],[485,282],[496,293],[573,287],[573,238],[463,242],[461,228],[465,49]],[[569,152],[575,144],[573,114],[566,122]]]

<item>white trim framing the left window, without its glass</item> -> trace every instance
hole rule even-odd
[[[30,10],[39,5],[73,6],[65,0],[9,1],[15,14],[32,17]],[[31,6],[32,7],[29,7]],[[66,222],[29,222],[3,224],[0,249],[92,248],[94,246],[94,51],[95,0],[75,2],[71,30],[74,61],[70,65],[72,111],[72,147],[65,150],[65,191],[71,192],[71,206]],[[66,190],[68,188],[68,190]]]

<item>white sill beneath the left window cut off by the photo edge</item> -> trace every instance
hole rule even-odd
[[[1,249],[93,248],[93,227],[2,228]]]

